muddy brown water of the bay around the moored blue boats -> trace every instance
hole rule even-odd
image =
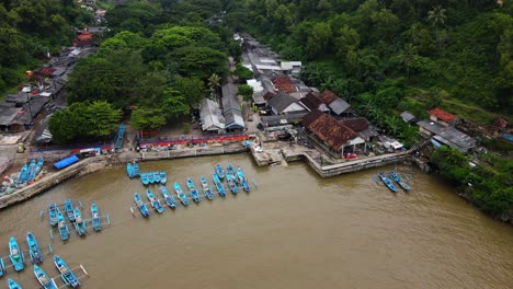
[[[254,177],[258,189],[152,211],[149,219],[130,215],[133,194],[144,187],[125,167],[68,181],[0,211],[0,254],[8,254],[11,235],[26,250],[30,230],[68,265],[84,265],[84,288],[513,288],[513,228],[411,166],[398,170],[412,177],[412,192],[397,194],[372,181],[377,170],[320,178],[303,162],[258,167],[243,154],[140,167],[166,170],[172,192],[172,181],[184,187],[191,176],[197,187],[202,174],[210,178],[216,163],[228,162]],[[66,243],[55,232],[50,240],[38,212],[66,198],[80,199],[87,216],[96,201],[111,227],[87,238],[71,232]],[[57,275],[50,256],[42,268]],[[0,288],[7,277],[37,287],[32,265],[8,269]]]

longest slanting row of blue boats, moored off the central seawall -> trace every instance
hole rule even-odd
[[[227,183],[231,193],[233,194],[239,193],[238,184],[240,184],[246,192],[251,190],[251,187],[249,183],[247,182],[244,174],[242,173],[242,170],[238,167],[236,171],[231,164],[228,164],[226,175],[224,173],[223,166],[216,165],[216,170],[212,174],[212,176],[213,176],[213,181],[214,181],[217,194],[219,194],[219,196],[221,197],[226,196],[225,185],[221,182],[221,180],[225,178],[225,176],[226,176],[226,180],[227,180]],[[204,197],[210,200],[214,199],[215,194],[213,193],[207,178],[204,175],[202,175],[200,177],[200,181],[201,181],[201,189],[203,192]],[[191,197],[191,199],[195,203],[200,203],[202,199],[202,196],[200,195],[200,192],[196,189],[194,182],[191,177],[187,177],[186,184],[187,184],[189,196]],[[174,192],[176,194],[179,201],[182,203],[183,206],[189,206],[187,195],[183,192],[182,187],[180,186],[178,182],[174,182]],[[161,200],[163,200],[166,205],[168,205],[168,207],[172,209],[176,208],[176,200],[169,193],[166,186],[160,186],[160,193],[162,195],[162,198],[156,197],[153,193],[147,188],[146,196],[149,203],[145,203],[138,193],[134,193],[134,201],[136,204],[136,207],[139,209],[139,211],[141,212],[144,217],[149,217],[149,210],[148,210],[147,205],[150,205],[159,213],[163,212],[164,208],[160,204]],[[134,213],[134,210],[132,208],[130,210]]]

